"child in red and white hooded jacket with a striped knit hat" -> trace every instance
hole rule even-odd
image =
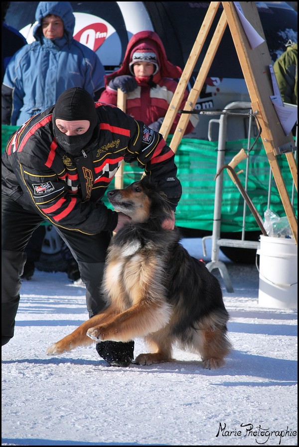
[[[143,121],[158,132],[177,87],[182,70],[167,60],[165,48],[153,31],[141,31],[128,43],[121,68],[105,76],[105,90],[99,101],[117,104],[117,89],[127,94],[126,113]],[[184,93],[183,109],[188,92]],[[173,134],[179,121],[178,113],[170,129]],[[191,115],[185,134],[196,126],[198,117]]]

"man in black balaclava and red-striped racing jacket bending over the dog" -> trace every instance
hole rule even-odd
[[[14,334],[25,247],[44,220],[55,225],[78,262],[89,317],[105,306],[100,286],[112,232],[129,217],[101,201],[122,161],[137,162],[173,206],[181,197],[174,153],[162,136],[119,108],[94,103],[82,88],[24,123],[2,156],[2,345]],[[96,345],[109,365],[128,366],[134,341]]]

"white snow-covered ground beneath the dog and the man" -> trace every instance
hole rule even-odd
[[[183,244],[210,259],[200,239]],[[94,346],[48,357],[87,319],[85,289],[36,270],[2,347],[2,446],[298,445],[297,310],[260,307],[257,267],[220,260],[234,350],[211,371],[178,349],[173,363],[128,368],[107,367]],[[135,355],[145,349],[137,339]]]

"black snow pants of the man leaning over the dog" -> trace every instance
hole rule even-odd
[[[1,344],[6,344],[14,333],[15,316],[20,299],[21,281],[26,262],[25,248],[43,219],[34,211],[25,210],[17,202],[2,196],[2,304]],[[106,305],[101,295],[101,284],[106,251],[111,232],[88,235],[56,227],[78,262],[81,279],[86,286],[86,305],[89,317]]]

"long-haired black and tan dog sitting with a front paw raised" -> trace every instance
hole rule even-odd
[[[135,363],[172,361],[172,346],[199,354],[205,368],[218,368],[230,352],[228,312],[218,280],[179,243],[175,228],[161,223],[170,204],[149,178],[108,192],[116,211],[132,218],[112,238],[103,279],[106,308],[47,349],[71,351],[92,341],[143,337],[150,353]]]

